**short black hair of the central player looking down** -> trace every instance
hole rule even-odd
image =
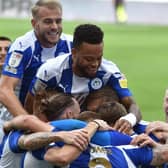
[[[82,24],[74,31],[73,46],[79,48],[83,42],[100,44],[103,42],[104,33],[100,27],[94,24]]]

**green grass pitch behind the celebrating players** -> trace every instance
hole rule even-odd
[[[65,21],[64,32],[73,33],[80,23],[85,21]],[[104,57],[115,62],[126,75],[143,119],[164,120],[162,104],[168,87],[168,26],[95,24],[105,32]],[[0,19],[0,35],[12,40],[30,29],[28,19]]]

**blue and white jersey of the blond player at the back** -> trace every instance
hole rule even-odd
[[[44,48],[32,30],[13,42],[7,53],[2,74],[21,79],[17,87],[17,95],[22,104],[37,69],[50,58],[70,53],[72,39],[71,35],[62,33],[54,47]]]

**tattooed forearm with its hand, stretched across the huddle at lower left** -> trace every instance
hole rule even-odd
[[[84,129],[60,132],[38,132],[22,135],[19,138],[18,144],[21,149],[35,150],[58,141],[74,145],[80,150],[84,150],[88,145],[88,134]]]

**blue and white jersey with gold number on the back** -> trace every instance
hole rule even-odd
[[[152,149],[148,147],[89,144],[88,149],[71,163],[70,168],[136,168],[142,165],[149,166],[152,157]]]

